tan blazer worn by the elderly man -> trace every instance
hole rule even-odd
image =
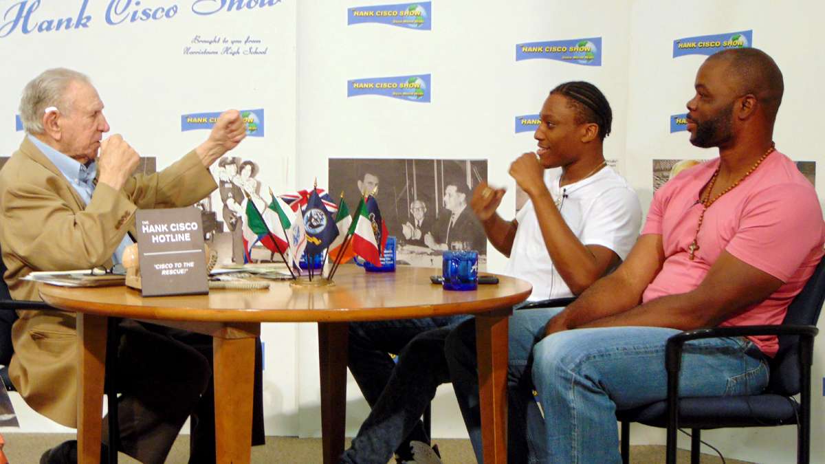
[[[121,192],[98,184],[86,205],[26,137],[0,170],[0,248],[12,298],[40,300],[32,271],[111,266],[138,208],[188,206],[217,188],[195,152],[160,173],[138,175]],[[70,312],[18,311],[9,376],[26,403],[77,427],[77,337]]]

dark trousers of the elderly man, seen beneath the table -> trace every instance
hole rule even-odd
[[[191,416],[189,462],[215,462],[212,338],[134,320],[123,320],[119,329],[120,451],[161,463]],[[256,358],[252,442],[262,444],[261,357]]]

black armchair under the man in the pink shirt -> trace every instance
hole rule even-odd
[[[622,461],[629,462],[630,423],[667,428],[667,463],[676,464],[676,429],[691,428],[691,463],[698,464],[702,429],[797,425],[797,462],[810,461],[811,364],[813,338],[825,301],[825,260],[788,307],[781,325],[698,329],[667,340],[667,400],[617,411],[621,422]],[[778,335],[779,352],[771,360],[768,387],[759,395],[679,398],[682,347],[688,340],[746,335]],[[799,394],[799,402],[792,398]]]

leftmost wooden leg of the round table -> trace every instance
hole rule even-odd
[[[97,464],[101,458],[108,319],[78,313],[78,462],[82,464]]]

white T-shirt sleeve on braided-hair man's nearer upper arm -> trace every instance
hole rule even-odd
[[[609,248],[624,261],[639,238],[641,225],[642,208],[636,192],[610,188],[592,202],[582,228],[582,244]]]

